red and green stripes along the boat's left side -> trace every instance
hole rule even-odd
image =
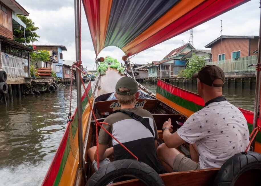
[[[86,90],[88,91],[87,94],[89,98],[92,96],[92,90],[91,90],[91,83],[89,82]],[[82,113],[88,104],[88,99],[86,96],[86,92],[83,93],[83,96],[81,97],[82,101]],[[72,115],[72,135],[73,137],[76,134],[76,130],[78,128],[78,122],[77,122],[77,108],[75,109],[73,115]],[[85,131],[84,131],[85,132]],[[69,135],[69,123],[66,127],[66,130],[64,132],[64,135],[62,137],[62,140],[58,146],[58,149],[54,155],[54,158],[52,160],[52,163],[46,173],[46,176],[44,178],[44,181],[42,182],[42,186],[49,186],[49,185],[58,185],[62,176],[62,172],[64,170],[64,166],[66,164],[68,154],[70,152],[70,139],[68,137]]]

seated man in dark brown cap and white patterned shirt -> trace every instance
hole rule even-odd
[[[218,168],[248,146],[244,115],[222,96],[223,70],[206,65],[192,77],[197,78],[197,91],[205,105],[173,134],[169,131],[171,120],[163,124],[165,143],[158,146],[157,154],[168,172]],[[190,144],[191,159],[176,149],[185,142]]]

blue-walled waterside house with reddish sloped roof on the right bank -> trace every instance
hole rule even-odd
[[[185,69],[186,61],[181,58],[193,49],[195,48],[188,43],[172,50],[161,61],[153,61],[152,65],[147,67],[149,78],[174,78],[181,69]]]

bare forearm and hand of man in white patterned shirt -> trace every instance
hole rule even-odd
[[[168,121],[165,121],[162,128],[167,127],[168,129],[171,129],[173,126],[171,125],[171,119],[169,118]],[[181,144],[185,143],[185,141],[179,137],[178,133],[170,133],[170,130],[165,129],[163,131],[163,140],[168,148],[177,148]]]

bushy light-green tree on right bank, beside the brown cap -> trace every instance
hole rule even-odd
[[[208,57],[208,55],[198,56],[196,53],[192,53],[192,58],[186,59],[186,69],[184,70],[185,77],[191,78],[194,73],[204,67],[206,57]]]

